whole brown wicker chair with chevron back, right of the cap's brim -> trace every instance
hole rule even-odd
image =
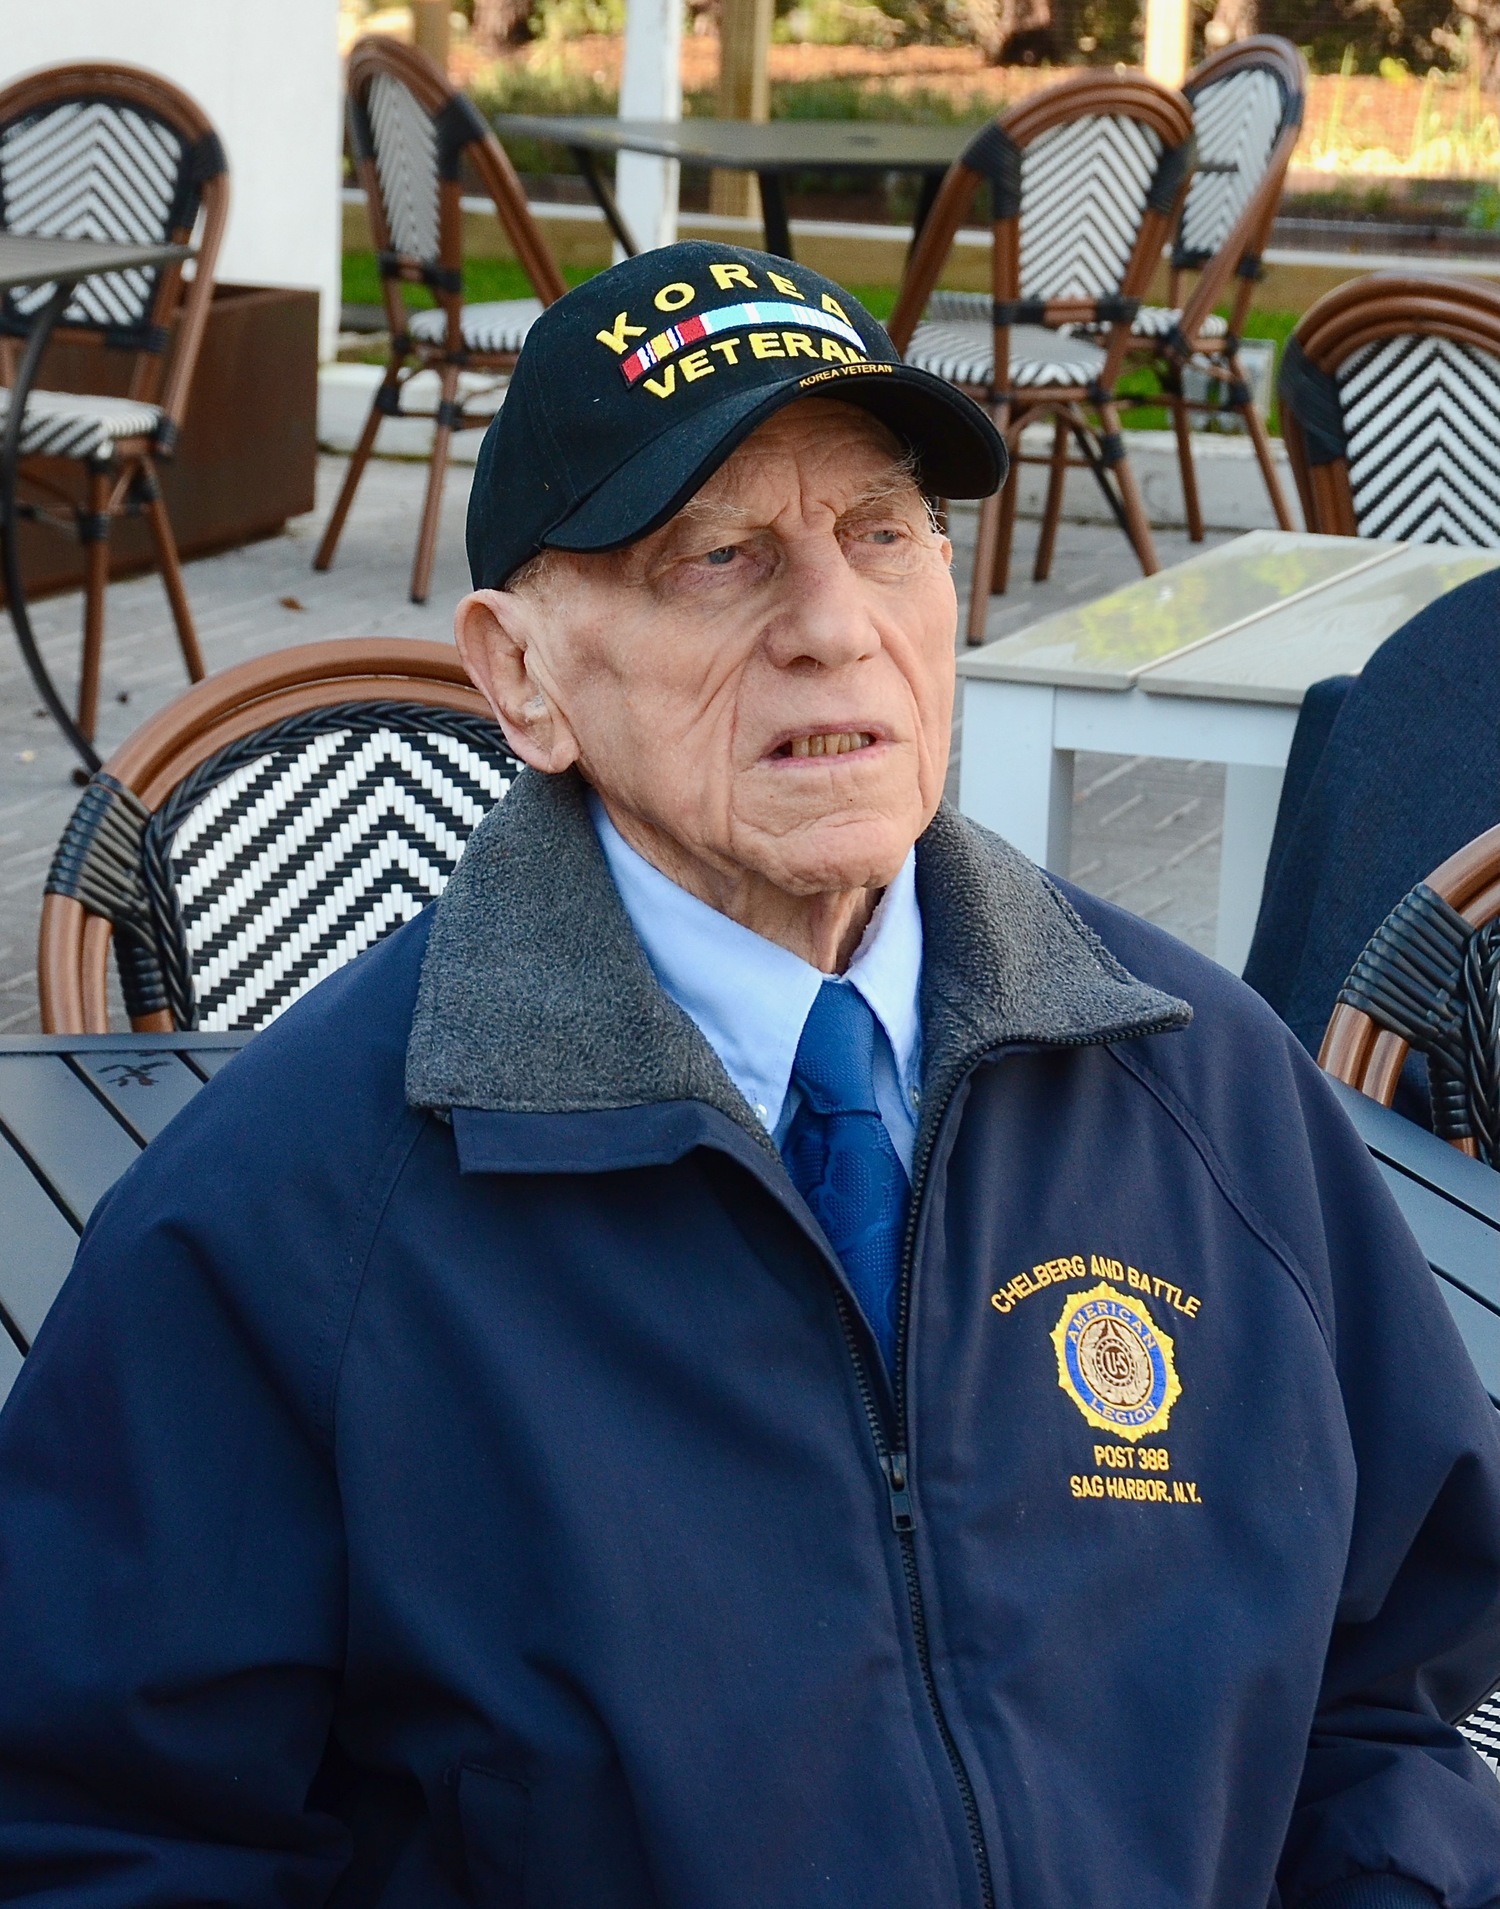
[[[889,323],[897,349],[987,405],[1013,462],[1025,462],[1025,426],[1053,424],[1038,582],[1052,567],[1069,462],[1092,470],[1141,569],[1156,569],[1115,391],[1193,153],[1193,115],[1181,94],[1132,74],[1063,80],[969,141],[912,248]],[[935,292],[985,183],[990,296]],[[1099,336],[1084,336],[1088,328]],[[1013,523],[1011,479],[979,514],[971,643],[985,638],[990,594],[1006,588]]]

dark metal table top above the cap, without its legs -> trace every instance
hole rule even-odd
[[[502,113],[506,137],[552,139],[590,153],[655,153],[725,172],[947,172],[971,126],[887,126],[876,120],[622,120]]]

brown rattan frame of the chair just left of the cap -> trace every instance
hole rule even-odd
[[[437,132],[437,256],[414,258],[397,252],[391,239],[391,214],[376,166],[374,134],[368,118],[370,84],[387,74],[397,80],[418,107],[433,120]],[[370,210],[370,235],[380,260],[382,298],[391,332],[385,378],[374,395],[359,443],[349,458],[349,470],[313,557],[313,569],[326,571],[334,561],[344,521],[355,500],[359,479],[374,451],[382,418],[431,418],[433,449],[427,468],[427,494],[412,557],[412,601],[426,603],[437,550],[437,525],[443,510],[443,481],[454,431],[483,430],[490,414],[464,410],[458,378],[464,370],[504,374],[515,365],[515,351],[471,351],[464,346],[464,212],[460,172],[468,168],[494,202],[500,225],[515,248],[521,269],[544,305],[563,296],[567,284],[548,250],[527,195],[500,141],[479,116],[473,103],[448,84],[439,67],[416,48],[403,46],[385,34],[366,34],[349,50],[347,63],[349,143],[355,155],[359,183]],[[441,344],[412,338],[408,309],[401,296],[403,284],[426,284],[445,313],[447,330]],[[433,410],[408,410],[401,403],[403,386],[420,370],[435,370],[441,389]]]

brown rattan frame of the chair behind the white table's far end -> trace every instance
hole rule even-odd
[[[1500,359],[1500,290],[1473,279],[1370,273],[1326,292],[1298,321],[1286,351],[1292,365],[1300,353],[1313,372],[1332,378],[1365,346],[1412,334],[1450,338]],[[1282,365],[1281,431],[1307,529],[1359,536],[1349,462],[1321,454],[1317,420],[1303,414],[1290,368]]]

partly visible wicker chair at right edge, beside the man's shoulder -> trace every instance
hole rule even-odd
[[[1500,827],[1405,895],[1349,970],[1319,1065],[1389,1107],[1427,1058],[1433,1130],[1500,1166]]]

